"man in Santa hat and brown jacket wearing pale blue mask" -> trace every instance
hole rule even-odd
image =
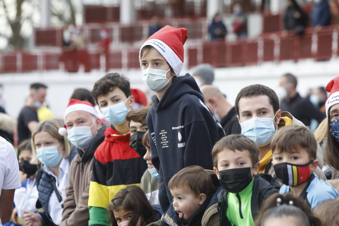
[[[66,199],[61,226],[86,225],[89,220],[88,190],[92,176],[93,156],[104,140],[106,126],[101,127],[98,112],[88,101],[71,99],[65,110],[64,127],[67,139],[77,148],[77,155],[69,166]]]

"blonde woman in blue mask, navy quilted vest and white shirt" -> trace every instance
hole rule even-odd
[[[76,154],[67,136],[61,136],[58,132],[62,126],[63,124],[56,119],[45,120],[32,132],[31,163],[41,163],[36,174],[39,193],[37,207],[42,207],[44,211],[41,213],[23,211],[26,225],[61,223],[68,167]]]

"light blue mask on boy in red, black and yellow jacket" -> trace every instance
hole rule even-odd
[[[124,102],[103,107],[101,109],[101,112],[104,120],[111,123],[112,125],[121,125],[122,123],[124,123],[126,120],[126,114],[128,112],[125,103],[128,101],[129,97]]]

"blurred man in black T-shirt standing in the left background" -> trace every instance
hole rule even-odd
[[[29,89],[29,96],[18,117],[18,137],[19,144],[31,138],[31,132],[38,125],[37,110],[45,102],[47,86],[42,83],[33,83]]]

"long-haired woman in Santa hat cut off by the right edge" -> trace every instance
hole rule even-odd
[[[330,93],[325,101],[327,116],[327,142],[324,159],[334,169],[332,180],[339,178],[339,76],[332,79],[325,90]]]

